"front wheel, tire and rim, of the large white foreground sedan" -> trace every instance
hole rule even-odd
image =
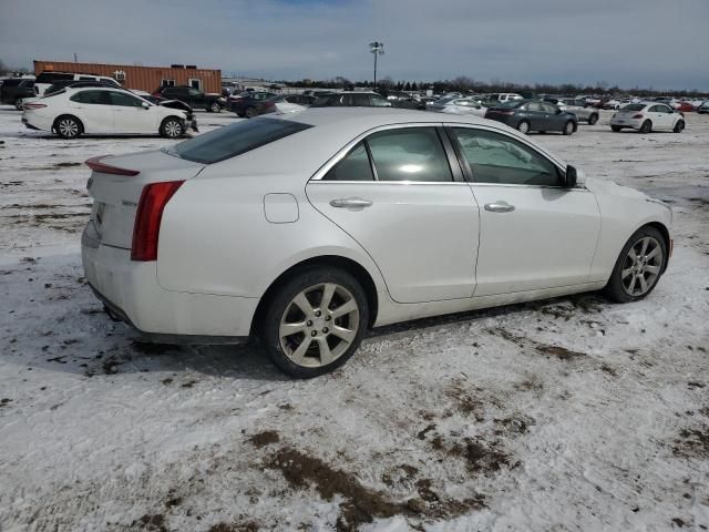
[[[666,262],[667,244],[660,232],[640,227],[623,247],[605,287],[606,295],[617,303],[643,299],[657,286]]]

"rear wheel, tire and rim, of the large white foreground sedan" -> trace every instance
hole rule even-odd
[[[307,379],[332,371],[357,351],[369,307],[350,274],[311,267],[280,286],[257,319],[271,362],[291,377]]]

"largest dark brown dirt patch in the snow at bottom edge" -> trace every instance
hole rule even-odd
[[[294,489],[307,489],[312,485],[325,500],[332,500],[339,494],[345,500],[340,503],[340,515],[337,519],[338,532],[356,531],[376,518],[386,519],[393,515],[409,518],[453,518],[472,510],[485,507],[484,495],[459,501],[443,499],[433,491],[429,479],[417,481],[419,498],[402,503],[389,501],[382,493],[363,487],[357,478],[348,472],[335,469],[317,457],[282,448],[270,457],[268,466],[281,472]],[[415,468],[409,469],[411,475]]]

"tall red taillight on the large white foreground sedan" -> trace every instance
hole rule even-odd
[[[160,223],[165,205],[184,181],[151,183],[143,188],[135,213],[131,260],[157,260]]]

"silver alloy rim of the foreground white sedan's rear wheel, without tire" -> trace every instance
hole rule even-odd
[[[284,354],[298,366],[317,368],[341,357],[359,329],[359,306],[341,285],[325,283],[298,293],[280,318]]]

